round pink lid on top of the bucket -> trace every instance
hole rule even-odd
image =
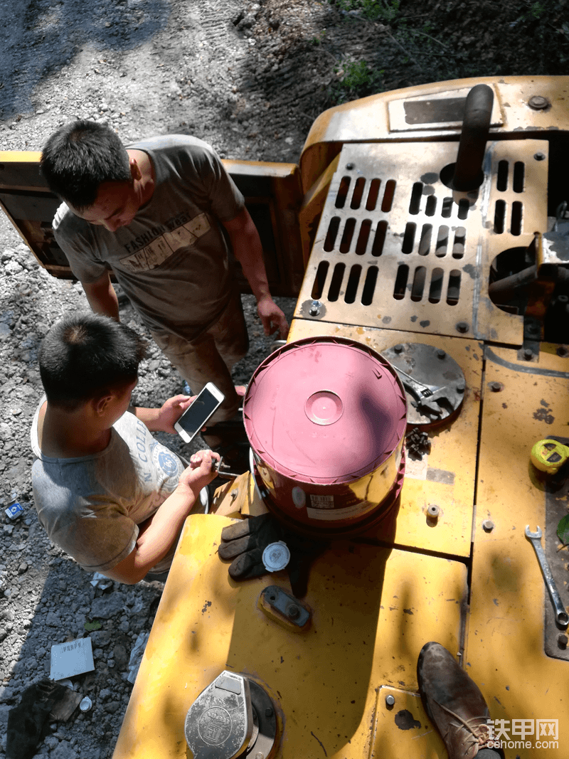
[[[288,343],[257,367],[245,430],[262,461],[285,477],[341,483],[379,467],[404,436],[407,401],[395,370],[345,338]]]

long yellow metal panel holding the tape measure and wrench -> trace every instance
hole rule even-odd
[[[527,524],[532,530],[539,524],[544,533],[546,526],[545,485],[530,463],[530,449],[567,431],[569,360],[555,347],[542,344],[539,365],[518,361],[508,348],[486,348],[465,653],[494,720],[508,720],[509,728],[511,720],[558,720],[558,751],[538,751],[532,735],[531,748],[516,750],[521,759],[561,756],[569,741],[569,663],[545,654],[544,606],[550,601],[524,536]],[[485,520],[492,521],[491,531],[483,528]],[[543,542],[556,543],[555,534],[548,531]],[[559,588],[569,603],[567,585]],[[558,634],[553,631],[554,641]]]

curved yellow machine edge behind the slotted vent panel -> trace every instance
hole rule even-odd
[[[537,137],[539,131],[569,130],[569,77],[480,77],[459,79],[419,87],[406,87],[372,95],[323,112],[314,121],[300,157],[300,172],[306,192],[341,150],[344,143],[424,142],[458,140],[461,124],[436,121],[417,125],[401,123],[405,106],[426,98],[452,99],[476,84],[488,84],[495,93],[492,137]],[[536,111],[528,106],[533,95],[549,99],[550,107]]]

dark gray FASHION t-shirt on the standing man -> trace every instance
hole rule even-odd
[[[80,282],[96,282],[110,266],[152,332],[196,339],[228,304],[232,274],[219,222],[234,219],[244,197],[196,137],[171,134],[127,147],[152,162],[149,202],[114,232],[63,204],[53,220],[55,240]]]

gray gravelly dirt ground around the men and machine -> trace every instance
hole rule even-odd
[[[412,84],[494,74],[561,74],[567,2],[530,0],[20,0],[0,5],[0,148],[41,150],[60,124],[105,121],[128,142],[194,134],[225,158],[297,162],[323,109]],[[52,644],[89,633],[95,670],[74,688],[93,708],[49,723],[36,751],[53,759],[112,756],[131,685],[130,651],[149,631],[162,586],[93,587],[46,539],[33,509],[29,430],[41,394],[42,336],[80,285],[58,282],[0,214],[0,759],[8,710],[49,676]],[[278,301],[289,319],[291,299]],[[253,299],[245,382],[269,354]],[[143,328],[125,306],[121,317]],[[181,381],[157,348],[135,401],[160,405]],[[166,442],[164,436],[163,442]],[[178,439],[168,441],[183,450]],[[187,452],[185,452],[187,455]],[[4,509],[12,493],[24,517]]]

